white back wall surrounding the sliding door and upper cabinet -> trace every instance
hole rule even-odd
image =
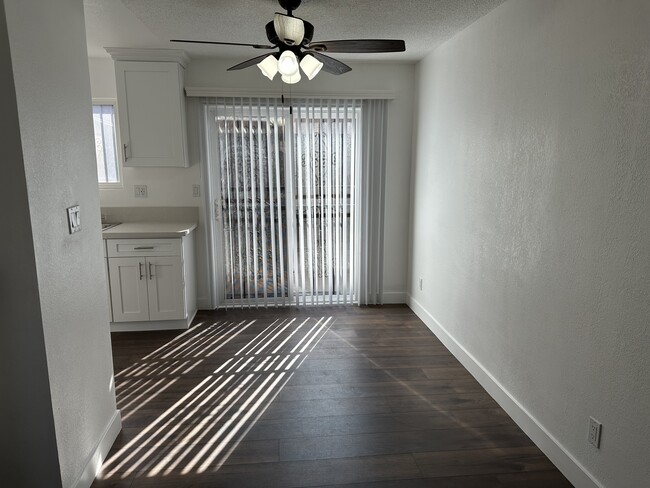
[[[254,53],[253,53],[254,54]],[[241,60],[239,60],[241,61]],[[193,59],[186,69],[185,85],[190,87],[219,88],[243,93],[250,91],[275,90],[282,92],[279,79],[273,83],[262,76],[255,67],[236,71],[226,71],[237,60],[219,60],[211,58]],[[310,93],[363,93],[373,91],[391,91],[395,100],[389,109],[389,136],[387,140],[386,161],[386,216],[384,246],[384,299],[386,301],[404,302],[407,286],[407,252],[408,252],[408,211],[409,178],[411,160],[411,141],[413,123],[413,89],[414,66],[411,64],[369,64],[350,63],[353,71],[334,77],[326,73],[313,81],[302,81],[294,88]],[[115,98],[115,81],[110,59],[90,59],[90,75],[93,97]],[[285,85],[285,93],[288,89]],[[196,125],[188,120],[190,145],[196,146],[198,135]],[[196,154],[196,148],[191,154]],[[196,159],[196,158],[193,158]],[[189,169],[150,169],[127,168],[124,172],[125,187],[122,190],[101,190],[103,206],[185,206],[199,205],[193,198],[192,184],[201,178],[200,166]],[[135,199],[133,184],[149,185],[150,197]],[[202,185],[203,186],[203,185]],[[160,198],[152,198],[153,191]],[[201,224],[203,210],[201,211]],[[204,304],[208,296],[207,258],[203,236],[197,240],[199,267],[199,305]]]

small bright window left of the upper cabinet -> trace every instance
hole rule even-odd
[[[114,101],[93,100],[95,157],[100,187],[120,185],[120,156],[117,150],[117,128]]]

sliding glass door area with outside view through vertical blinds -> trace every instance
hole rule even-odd
[[[360,102],[219,99],[214,115],[225,304],[353,303]]]

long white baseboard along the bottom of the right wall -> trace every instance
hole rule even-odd
[[[576,488],[604,488],[415,298],[408,306]]]

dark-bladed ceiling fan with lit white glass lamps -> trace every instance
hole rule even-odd
[[[266,37],[271,45],[188,39],[172,39],[171,42],[249,46],[254,49],[264,50],[277,49],[274,53],[256,56],[232,66],[228,68],[228,71],[257,65],[264,76],[270,80],[279,72],[282,81],[289,84],[300,81],[301,69],[310,80],[321,69],[334,75],[341,75],[352,69],[324,53],[389,53],[406,50],[404,41],[395,39],[349,39],[313,42],[314,26],[306,20],[293,16],[293,11],[300,6],[301,0],[278,0],[278,2],[287,13],[286,15],[276,13],[273,20],[266,24]]]

